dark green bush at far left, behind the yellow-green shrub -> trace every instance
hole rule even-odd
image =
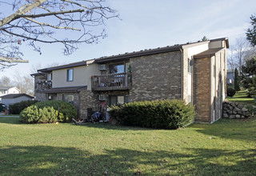
[[[22,110],[26,107],[34,105],[36,102],[35,100],[27,100],[22,102],[16,102],[14,104],[9,105],[9,114],[20,114]]]

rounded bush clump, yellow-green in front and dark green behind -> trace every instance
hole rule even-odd
[[[70,122],[76,117],[77,110],[72,104],[58,100],[37,102],[20,114],[26,123]]]

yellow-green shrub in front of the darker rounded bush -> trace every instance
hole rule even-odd
[[[22,122],[26,123],[52,123],[58,122],[58,111],[53,107],[38,108],[38,106],[32,105],[22,110],[20,118]]]

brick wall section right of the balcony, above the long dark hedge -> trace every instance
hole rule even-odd
[[[180,51],[130,58],[130,102],[182,98]]]

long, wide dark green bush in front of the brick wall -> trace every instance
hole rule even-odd
[[[194,122],[194,106],[182,100],[130,102],[112,106],[110,117],[125,126],[178,129]]]

